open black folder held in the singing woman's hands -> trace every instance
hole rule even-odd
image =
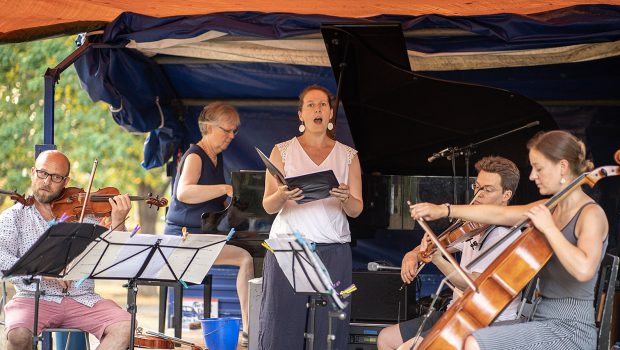
[[[302,195],[304,198],[297,201],[299,204],[327,198],[330,196],[329,190],[340,185],[338,179],[336,179],[336,175],[334,175],[334,172],[331,170],[285,178],[280,170],[273,165],[261,150],[256,147],[254,148],[256,152],[258,152],[263,163],[265,163],[267,170],[280,184],[287,185],[289,189],[300,188],[303,191]]]

